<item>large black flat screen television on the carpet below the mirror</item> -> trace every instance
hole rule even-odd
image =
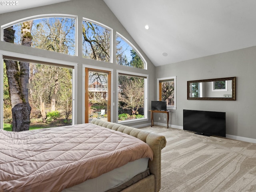
[[[226,112],[183,110],[183,130],[226,137]]]

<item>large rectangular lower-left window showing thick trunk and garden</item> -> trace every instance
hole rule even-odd
[[[24,131],[72,124],[71,66],[4,58],[5,130]]]

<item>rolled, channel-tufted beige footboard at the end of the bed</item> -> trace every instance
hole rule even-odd
[[[120,125],[112,122],[106,122],[99,119],[93,119],[92,124],[96,124],[102,127],[106,127],[112,130],[120,131],[128,135],[134,136],[145,143],[147,143],[152,149],[154,156],[153,160],[149,160],[148,167],[150,174],[154,174],[154,186],[155,192],[158,192],[161,188],[161,150],[166,146],[166,139],[164,136],[154,134],[148,131],[140,130],[137,128]],[[152,179],[152,178],[151,178]],[[146,180],[145,180],[146,181]],[[150,182],[148,182],[150,183]],[[127,188],[128,189],[128,188]]]

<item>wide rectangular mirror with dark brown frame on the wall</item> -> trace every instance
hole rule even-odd
[[[188,100],[236,100],[236,77],[187,82]]]

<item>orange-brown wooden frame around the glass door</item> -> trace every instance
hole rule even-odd
[[[99,70],[94,68],[85,68],[85,114],[84,121],[85,123],[89,122],[89,110],[87,107],[89,106],[89,71],[106,73],[108,74],[108,100],[107,100],[107,113],[108,113],[108,122],[111,121],[111,71],[107,70]]]

